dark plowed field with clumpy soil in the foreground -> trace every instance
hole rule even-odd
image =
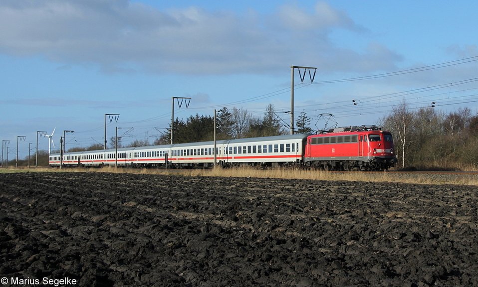
[[[39,286],[44,278],[76,280],[70,286],[478,286],[477,192],[389,182],[3,173],[1,286],[18,279]]]

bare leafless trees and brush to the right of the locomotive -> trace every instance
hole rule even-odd
[[[392,132],[401,168],[478,166],[478,115],[469,108],[445,113],[433,107],[411,109],[403,101],[378,125]]]

